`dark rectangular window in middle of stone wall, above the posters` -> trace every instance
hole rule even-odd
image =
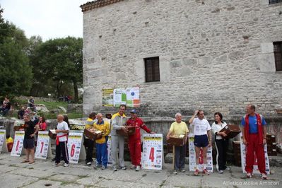
[[[160,60],[158,57],[144,59],[146,82],[160,81]]]

